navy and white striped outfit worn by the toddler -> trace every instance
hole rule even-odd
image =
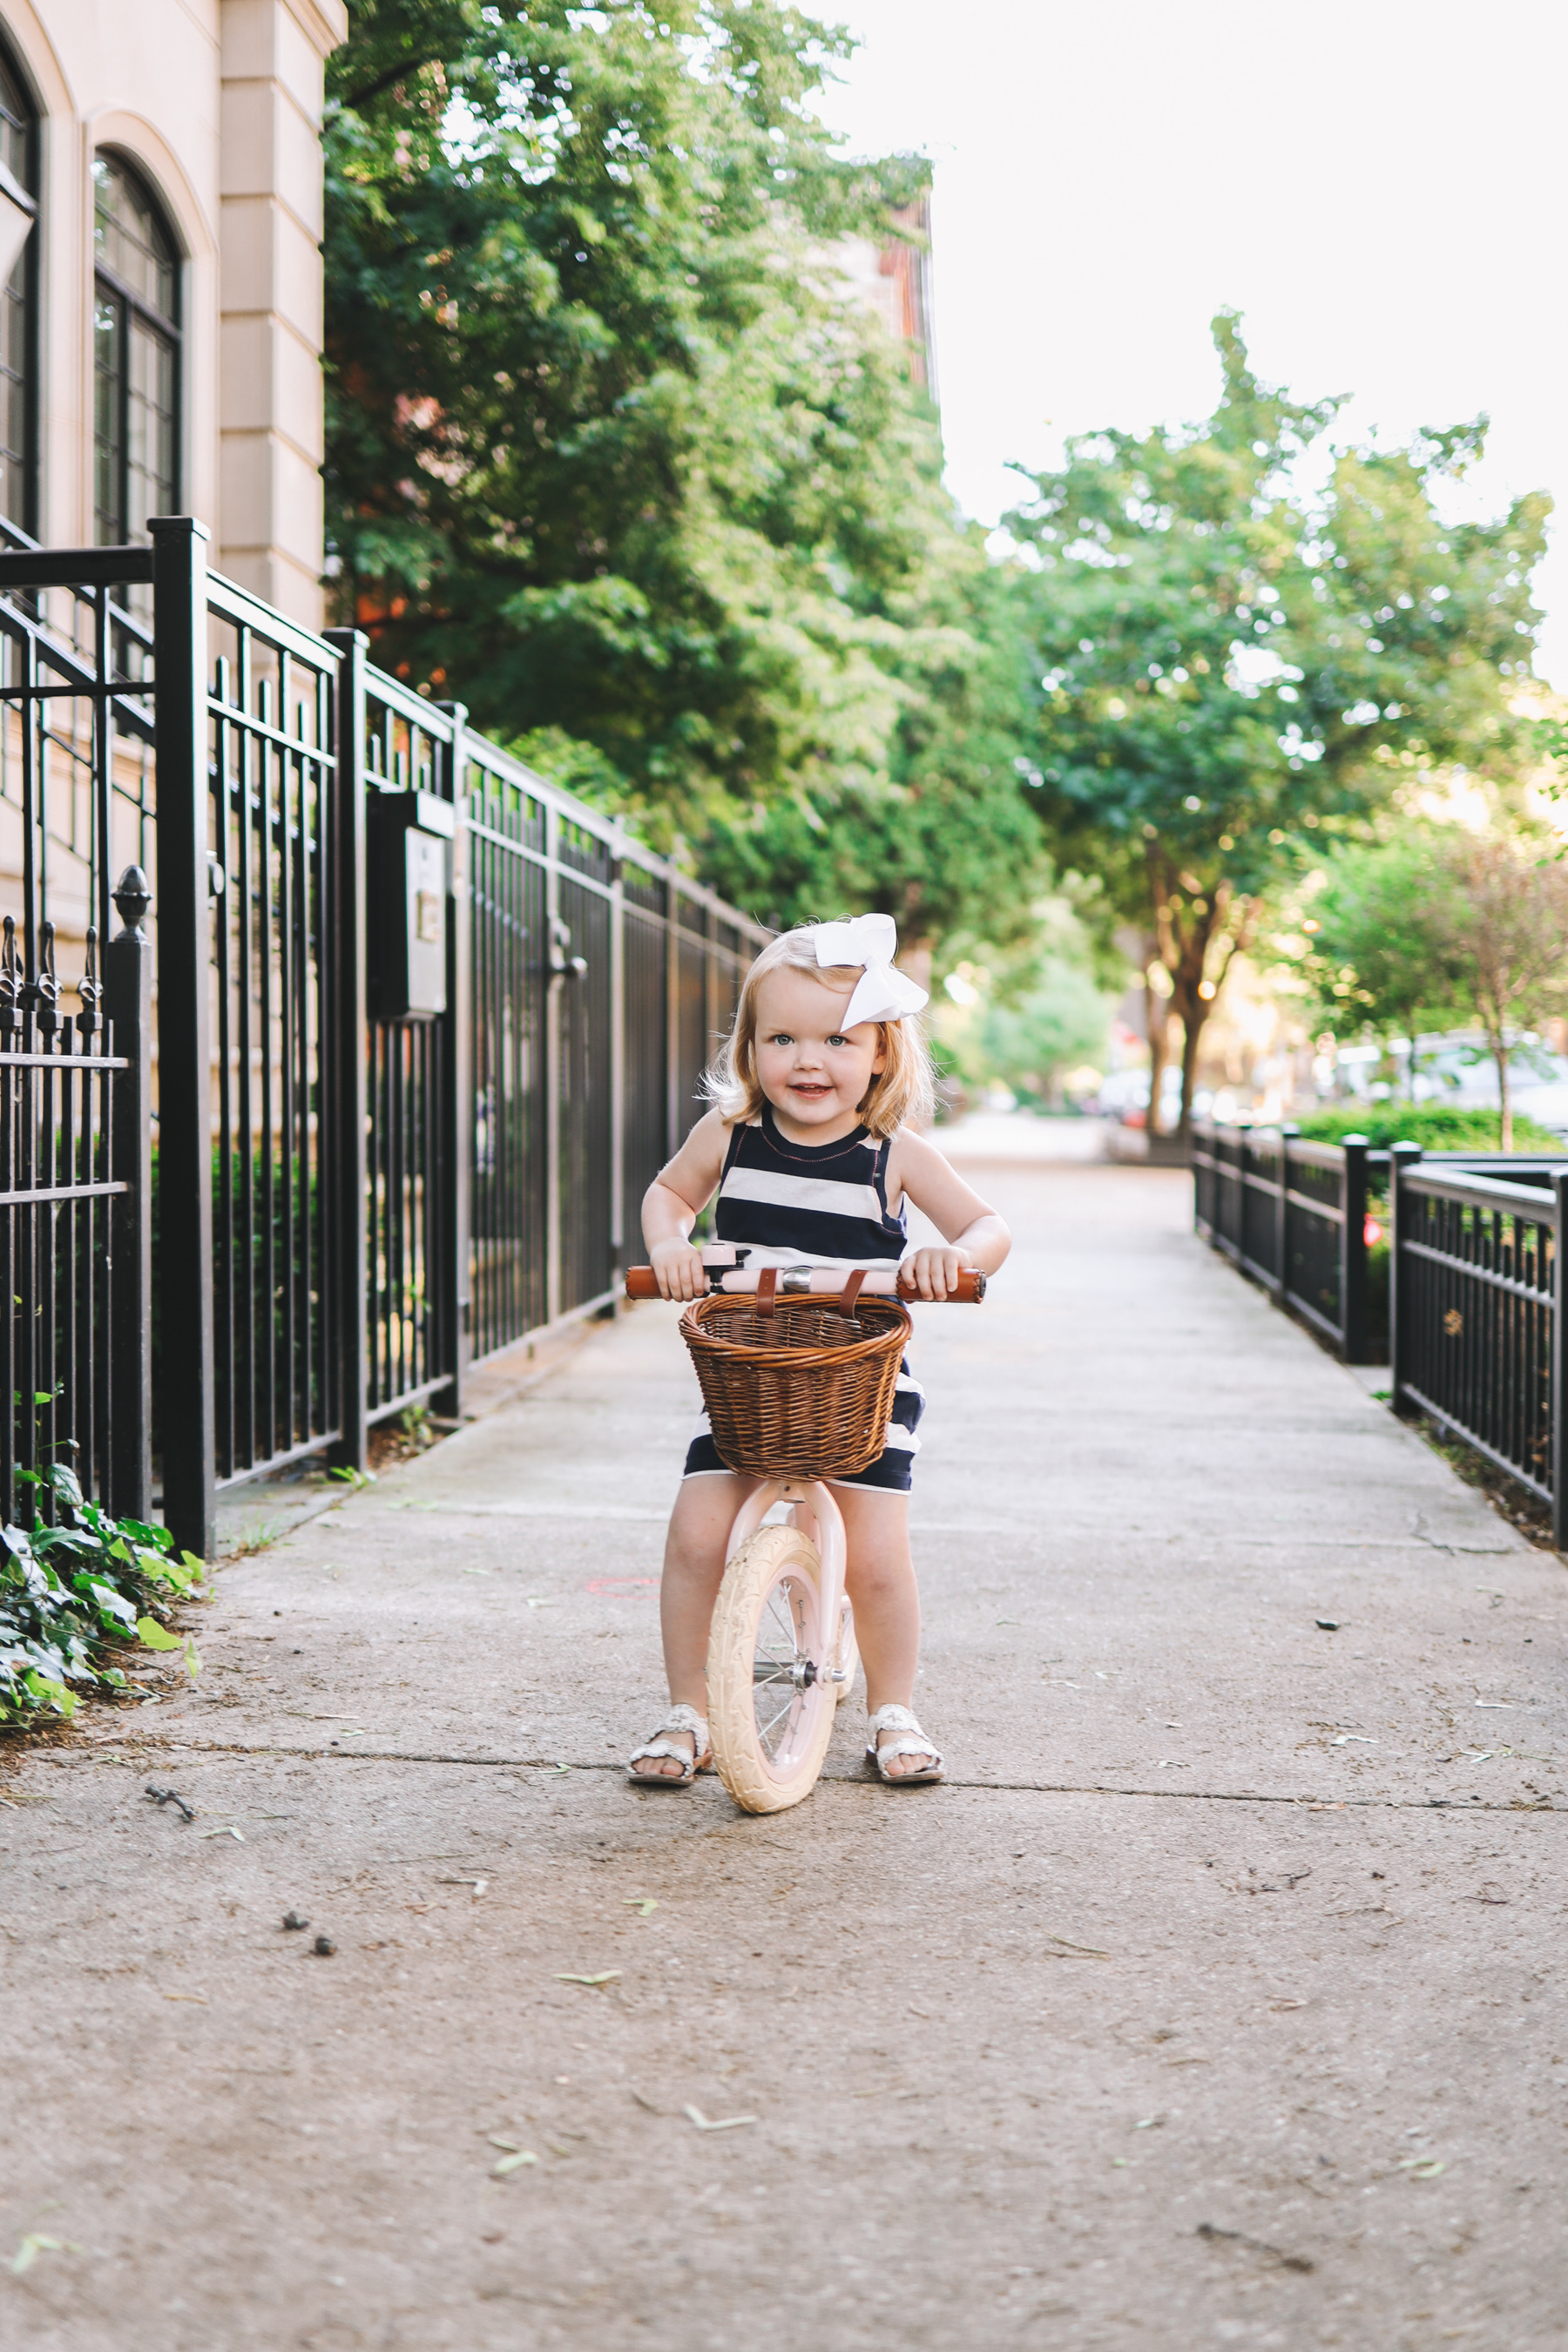
[[[741,1242],[748,1272],[759,1265],[898,1265],[910,1237],[903,1202],[898,1216],[889,1216],[889,1148],[865,1127],[837,1143],[785,1143],[764,1103],[762,1117],[736,1127],[729,1138],[712,1214],[715,1240]],[[914,1430],[924,1409],[926,1392],[903,1362],[886,1446],[858,1477],[832,1484],[907,1494],[919,1454]],[[684,1477],[715,1475],[729,1472],[703,1414],[686,1446]]]

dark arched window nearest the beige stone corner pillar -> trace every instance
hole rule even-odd
[[[179,503],[179,247],[139,174],[94,181],[94,520],[101,548],[146,541]]]

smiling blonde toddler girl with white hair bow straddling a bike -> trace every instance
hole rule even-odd
[[[891,915],[802,924],[769,941],[741,988],[736,1023],[708,1073],[712,1110],[649,1185],[642,1232],[665,1298],[703,1298],[691,1228],[717,1192],[715,1237],[762,1265],[896,1265],[905,1202],[945,1235],[907,1256],[922,1298],[945,1298],[959,1268],[994,1272],[1011,1235],[924,1141],[931,1056],[917,1016],[926,990],[893,969]],[[884,1780],[940,1780],[943,1757],[914,1722],[919,1592],[910,1559],[910,1472],[924,1392],[900,1367],[877,1461],[832,1479],[849,1538],[846,1585],[865,1668],[867,1757]],[[710,1764],[708,1621],[724,1543],[757,1482],[726,1470],[708,1416],[686,1449],[670,1534],[661,1623],[670,1712],[637,1750],[632,1780],[686,1788]]]

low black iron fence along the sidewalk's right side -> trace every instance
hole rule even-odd
[[[1561,1160],[1375,1152],[1206,1120],[1192,1174],[1197,1230],[1349,1362],[1378,1359],[1387,1336],[1394,1411],[1425,1414],[1547,1503],[1568,1550],[1568,1145]],[[1368,1188],[1387,1188],[1371,1221]],[[1387,1322],[1368,1279],[1385,1218]]]

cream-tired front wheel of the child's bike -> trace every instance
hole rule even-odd
[[[813,1630],[818,1578],[816,1545],[797,1526],[759,1526],[724,1569],[708,1635],[708,1729],[719,1780],[745,1813],[799,1804],[827,1755],[837,1686]]]

